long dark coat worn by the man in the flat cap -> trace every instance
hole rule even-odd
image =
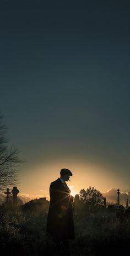
[[[50,206],[46,234],[58,238],[74,239],[73,198],[66,184],[58,178],[50,185]]]

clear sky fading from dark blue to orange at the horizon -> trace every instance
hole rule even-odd
[[[0,111],[19,191],[130,191],[129,1],[1,1]]]

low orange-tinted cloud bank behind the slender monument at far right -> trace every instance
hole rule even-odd
[[[129,194],[128,194],[129,192]],[[112,188],[107,192],[102,192],[102,195],[106,197],[106,201],[109,203],[117,203],[117,190]],[[126,206],[126,200],[130,203],[130,191],[121,192],[120,191],[120,204]]]

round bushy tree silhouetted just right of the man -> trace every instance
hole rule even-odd
[[[100,191],[91,186],[86,190],[80,190],[79,197],[82,202],[91,203],[93,206],[97,204],[104,205],[104,196]]]

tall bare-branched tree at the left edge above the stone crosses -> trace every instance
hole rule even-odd
[[[10,185],[18,185],[18,165],[23,163],[18,158],[17,148],[9,149],[6,133],[7,127],[3,123],[3,115],[0,112],[0,191]]]

